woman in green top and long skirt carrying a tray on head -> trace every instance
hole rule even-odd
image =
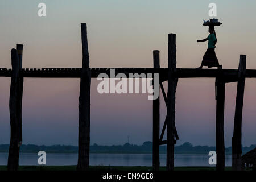
[[[203,66],[207,66],[208,68],[217,67],[218,69],[220,69],[221,67],[220,64],[218,63],[218,59],[216,57],[214,50],[216,48],[215,44],[217,43],[214,26],[209,26],[208,31],[210,35],[206,39],[197,40],[197,42],[205,42],[208,40],[208,49],[204,54],[203,61],[200,67],[197,69],[201,69]]]

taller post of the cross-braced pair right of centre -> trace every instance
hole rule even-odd
[[[168,93],[167,93],[167,160],[166,169],[174,170],[174,133],[175,133],[175,93],[177,78],[172,76],[176,71],[176,34],[168,35]]]

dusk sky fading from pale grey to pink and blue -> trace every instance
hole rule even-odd
[[[46,17],[38,4],[46,3]],[[81,67],[80,23],[87,23],[90,67],[168,67],[168,33],[176,34],[177,67],[201,64],[208,36],[203,19],[217,5],[216,54],[223,68],[256,69],[256,1],[40,0],[0,1],[0,68],[11,68],[11,48],[24,44],[23,68]],[[10,142],[10,78],[0,77],[0,144]],[[142,144],[152,140],[152,101],[147,94],[98,94],[91,87],[90,143]],[[215,144],[214,78],[182,78],[176,92],[177,144]],[[23,143],[78,145],[78,78],[25,78]],[[167,82],[164,82],[167,92]],[[231,146],[237,83],[226,84],[225,144]],[[161,129],[166,107],[160,96]],[[256,80],[247,78],[243,104],[242,144],[256,144]]]

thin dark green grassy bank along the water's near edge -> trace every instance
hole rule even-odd
[[[175,167],[175,171],[215,171],[215,167]],[[0,166],[0,171],[6,171],[7,166]],[[146,166],[90,166],[90,171],[151,171],[152,167]],[[165,171],[166,167],[160,167]],[[225,167],[231,171],[232,167]],[[249,169],[247,169],[249,170]],[[19,171],[76,171],[76,166],[19,166]]]

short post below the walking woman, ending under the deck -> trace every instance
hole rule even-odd
[[[225,168],[225,143],[224,143],[224,107],[225,107],[225,82],[216,78],[216,153],[217,171]]]

